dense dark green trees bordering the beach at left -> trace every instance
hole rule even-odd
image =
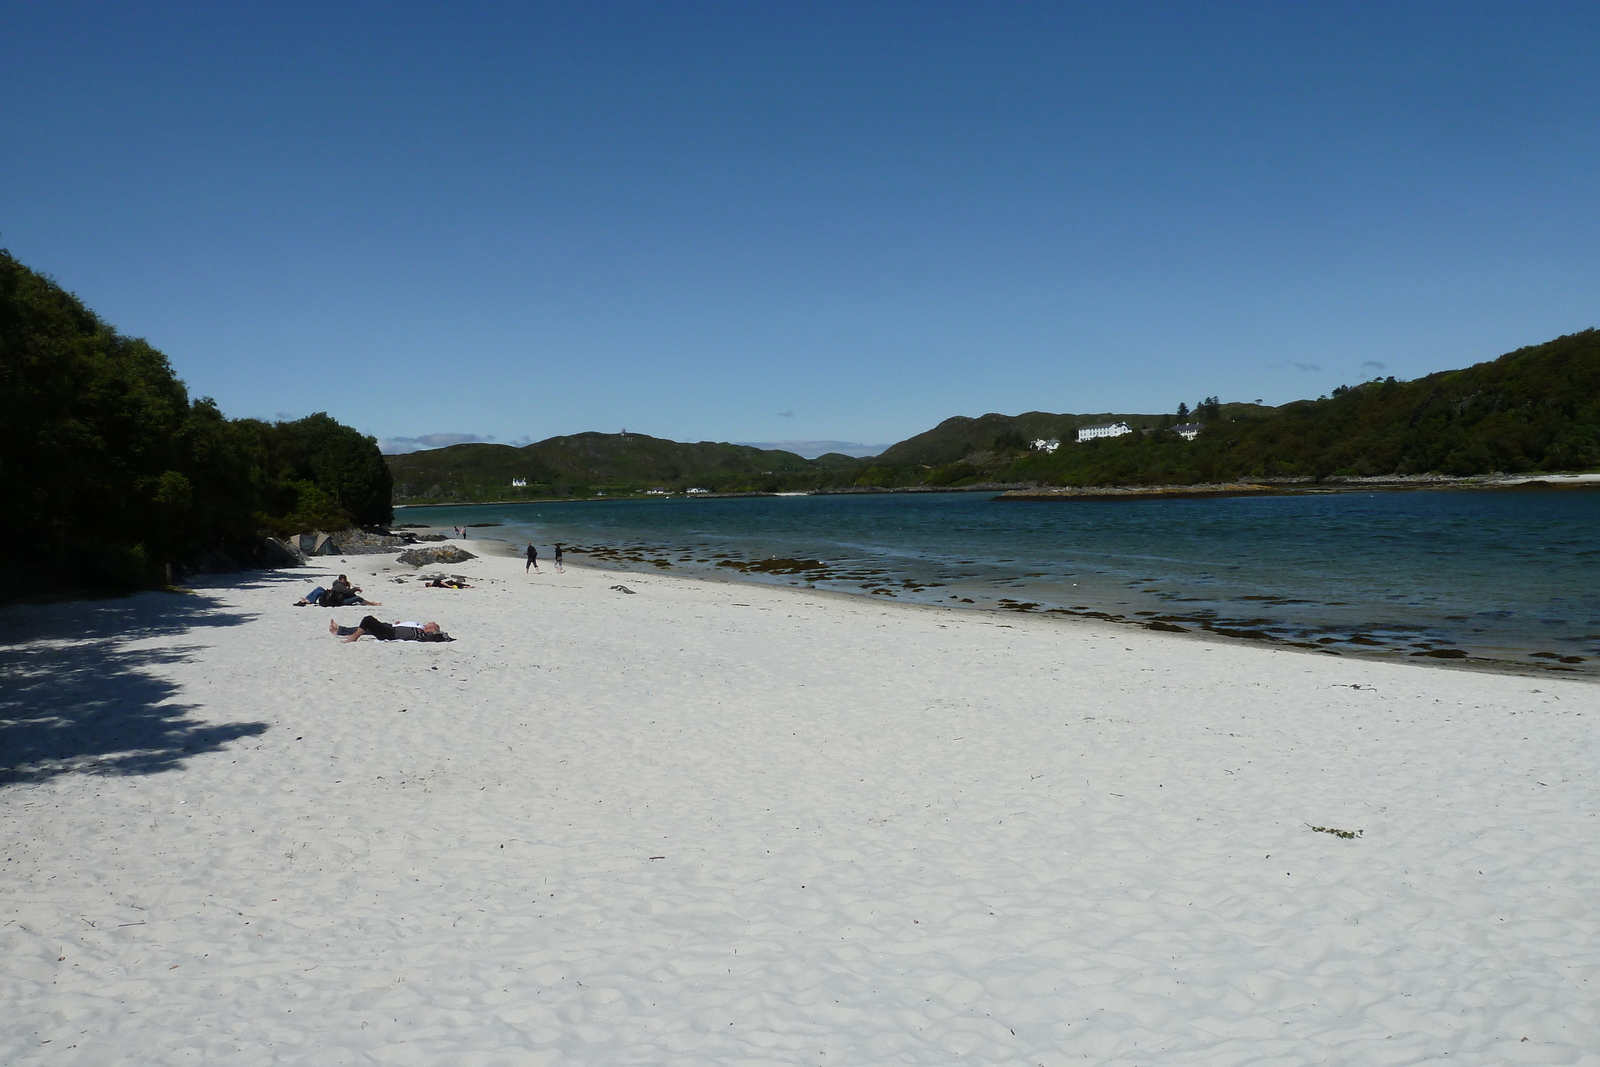
[[[165,355],[3,250],[0,419],[0,494],[29,544],[0,597],[149,585],[168,563],[248,558],[266,531],[392,517],[371,437],[190,400]]]

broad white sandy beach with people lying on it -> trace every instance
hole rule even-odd
[[[266,723],[0,785],[0,1062],[1600,1062],[1590,681],[379,565],[459,640],[0,613],[8,715]]]

